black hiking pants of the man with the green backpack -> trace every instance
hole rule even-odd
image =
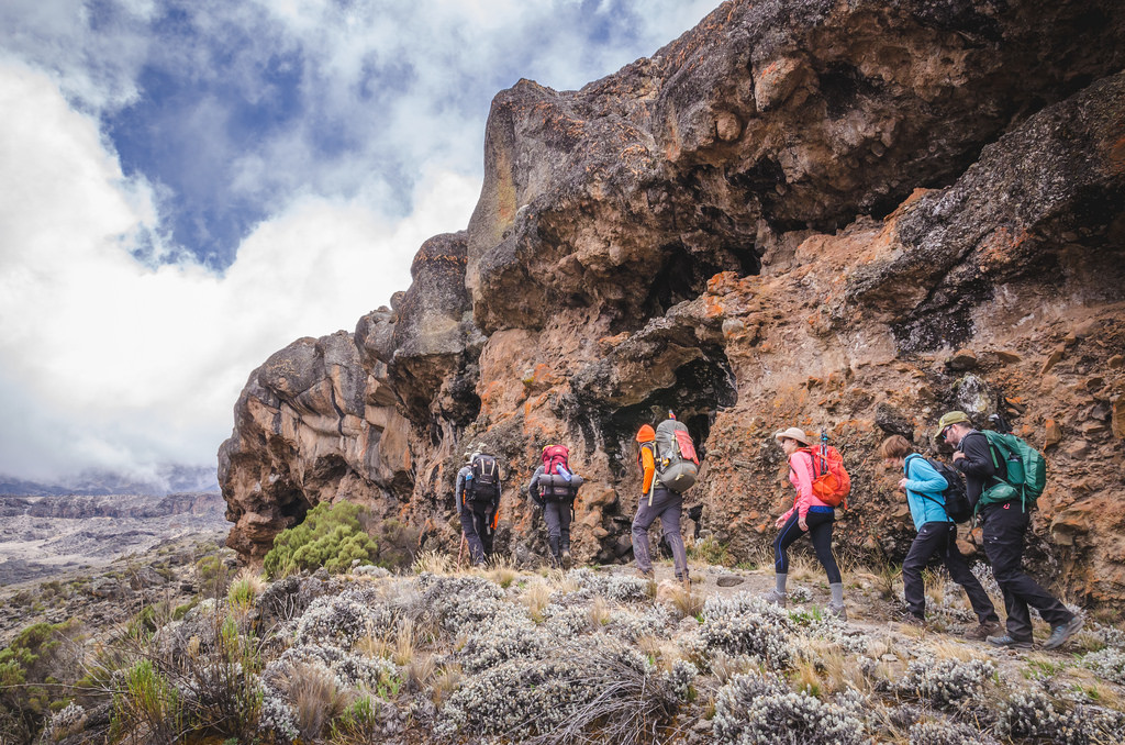
[[[1023,569],[1024,533],[1030,519],[1020,503],[990,504],[984,517],[984,555],[992,565],[992,575],[1004,592],[1004,607],[1008,611],[1008,635],[1020,641],[1032,640],[1032,614],[1028,607],[1040,611],[1052,628],[1069,623],[1074,614],[1059,600],[1027,576]]]

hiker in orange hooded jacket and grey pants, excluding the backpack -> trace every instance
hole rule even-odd
[[[680,532],[680,515],[684,508],[684,497],[660,485],[656,475],[656,431],[648,424],[637,432],[637,465],[641,470],[641,497],[637,506],[637,515],[632,523],[633,556],[637,558],[637,572],[647,578],[652,578],[652,559],[649,556],[648,528],[657,518],[664,539],[672,547],[672,560],[676,569],[676,580],[687,583],[687,550],[684,548],[684,537]],[[654,484],[654,479],[656,483]]]

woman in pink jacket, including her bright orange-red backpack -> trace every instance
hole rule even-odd
[[[796,490],[793,506],[777,518],[781,529],[774,541],[774,578],[776,586],[766,595],[766,601],[785,605],[785,581],[789,578],[789,547],[801,536],[809,533],[817,558],[828,573],[828,589],[831,600],[828,612],[847,620],[844,608],[844,582],[832,556],[832,524],[836,522],[836,506],[850,488],[850,481],[836,448],[812,446],[804,430],[791,427],[774,434],[789,458],[789,481]]]

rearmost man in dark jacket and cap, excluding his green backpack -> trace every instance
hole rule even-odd
[[[1008,475],[1004,458],[998,457],[981,432],[973,429],[964,412],[953,411],[937,423],[937,437],[956,448],[953,466],[965,475],[969,502],[976,508],[988,487],[1001,483]],[[1044,649],[1062,646],[1082,628],[1082,618],[1066,610],[1056,598],[1024,573],[1024,533],[1029,520],[1020,500],[984,505],[979,515],[984,523],[984,555],[992,565],[992,575],[1004,592],[1008,612],[1008,632],[990,636],[999,647],[1028,649],[1032,646],[1032,616],[1028,605],[1040,611],[1051,625],[1051,637]]]

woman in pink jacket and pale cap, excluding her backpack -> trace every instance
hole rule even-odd
[[[811,441],[809,436],[796,427],[791,427],[774,436],[785,455],[789,456],[789,481],[796,490],[793,506],[777,518],[776,527],[781,529],[774,541],[774,576],[776,586],[766,595],[766,600],[784,605],[788,598],[785,581],[789,577],[789,547],[801,536],[808,533],[817,558],[828,573],[828,587],[831,601],[828,612],[847,619],[844,608],[844,582],[840,578],[836,557],[832,556],[832,524],[836,522],[836,509],[825,504],[812,493],[813,463],[809,452]]]

